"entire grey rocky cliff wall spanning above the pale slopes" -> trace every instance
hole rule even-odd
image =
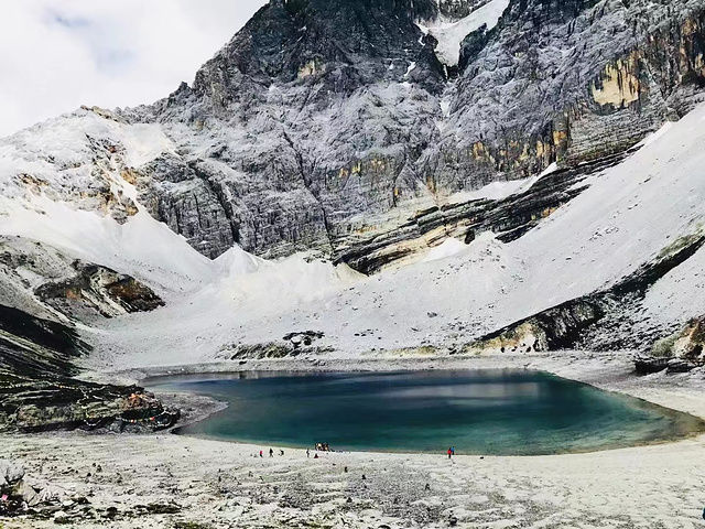
[[[15,138],[19,156],[61,177],[14,183],[121,223],[137,201],[210,258],[234,244],[359,256],[360,240],[456,192],[608,159],[702,99],[703,0],[511,0],[496,26],[474,19],[495,2],[506,0],[272,0],[193,86],[88,111],[158,129],[154,155],[131,155],[110,127],[77,137],[65,160]],[[478,28],[457,66],[438,60],[429,21],[444,35]],[[124,182],[137,194],[118,193]],[[475,206],[434,226],[499,226]]]

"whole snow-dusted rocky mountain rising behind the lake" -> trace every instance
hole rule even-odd
[[[705,313],[704,17],[272,0],[169,97],[0,140],[0,304],[94,369],[649,350]]]

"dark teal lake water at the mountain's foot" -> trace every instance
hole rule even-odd
[[[684,413],[544,373],[247,373],[153,379],[149,389],[228,408],[178,433],[264,446],[533,455],[666,441],[703,431]]]

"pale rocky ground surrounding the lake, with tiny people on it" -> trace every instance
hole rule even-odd
[[[251,363],[253,369],[530,367],[705,417],[705,376],[637,378],[626,355],[506,358],[370,357]],[[214,367],[214,369],[217,368]],[[192,417],[208,411],[182,401]],[[669,444],[539,457],[329,453],[171,434],[80,432],[6,436],[0,457],[52,484],[53,503],[8,528],[221,527],[699,527],[705,436]],[[276,452],[279,453],[279,452]],[[85,499],[84,499],[85,498]]]

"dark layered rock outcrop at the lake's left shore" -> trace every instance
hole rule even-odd
[[[142,388],[72,378],[88,348],[65,325],[0,305],[0,431],[173,424],[177,412]]]

